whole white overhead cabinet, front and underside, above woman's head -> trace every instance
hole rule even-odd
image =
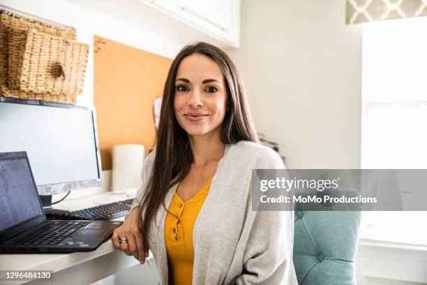
[[[195,41],[206,41],[223,49],[240,45],[241,0],[63,1],[104,17],[103,21],[117,27],[112,31],[105,28],[105,34],[115,34],[112,39],[118,41],[126,38],[123,43],[130,45],[144,46],[145,41],[156,45],[160,39],[166,42],[165,50],[174,50],[172,54],[176,54],[178,47]],[[97,22],[98,25],[102,24]]]

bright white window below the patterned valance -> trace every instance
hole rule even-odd
[[[364,24],[362,168],[427,168],[426,31],[427,17]],[[426,220],[364,212],[361,238],[427,244]]]

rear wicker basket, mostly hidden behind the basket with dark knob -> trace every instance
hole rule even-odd
[[[73,28],[64,28],[34,20],[21,15],[15,15],[6,10],[0,10],[0,92],[3,96],[25,98],[31,100],[75,103],[76,94],[36,93],[14,90],[8,87],[9,43],[10,31],[36,29],[47,35],[61,37],[64,40],[75,41],[76,32]]]

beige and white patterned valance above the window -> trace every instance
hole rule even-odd
[[[347,0],[346,23],[427,16],[427,0]]]

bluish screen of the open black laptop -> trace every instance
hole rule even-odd
[[[43,208],[27,159],[0,159],[0,232],[40,215]]]

